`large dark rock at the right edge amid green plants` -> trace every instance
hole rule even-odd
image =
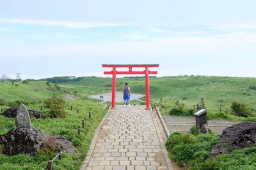
[[[221,135],[218,143],[212,148],[208,159],[220,153],[230,153],[245,147],[251,147],[256,143],[256,123],[241,122],[227,127]]]

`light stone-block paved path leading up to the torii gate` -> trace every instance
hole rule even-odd
[[[172,169],[153,111],[145,106],[111,110],[81,169]]]

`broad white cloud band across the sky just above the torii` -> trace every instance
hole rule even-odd
[[[255,55],[255,46],[256,34],[236,33],[207,37],[154,38],[147,41],[127,40],[97,45],[37,46],[31,49],[1,50],[0,57],[236,57],[242,54]]]

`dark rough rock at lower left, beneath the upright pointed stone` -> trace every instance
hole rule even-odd
[[[68,153],[74,153],[72,143],[62,136],[45,134],[37,129],[12,129],[0,136],[0,145],[5,146],[7,155],[36,155],[42,148],[56,152],[58,148]]]

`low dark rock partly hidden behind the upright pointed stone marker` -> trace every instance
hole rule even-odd
[[[4,110],[2,115],[4,117],[15,118],[17,115],[18,108],[19,107],[8,108],[8,109]],[[42,113],[40,111],[35,111],[35,110],[28,110],[28,113],[29,113],[30,117],[33,116],[35,118],[41,118],[42,116],[44,116],[44,113]]]

